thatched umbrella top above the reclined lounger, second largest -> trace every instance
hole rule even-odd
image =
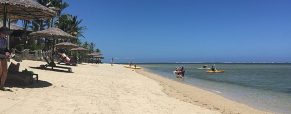
[[[36,31],[29,34],[33,38],[51,38],[51,39],[75,39],[76,37],[64,32],[59,28],[48,28],[42,31]]]

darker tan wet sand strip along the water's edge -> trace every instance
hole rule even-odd
[[[255,109],[246,104],[239,103],[213,92],[201,89],[199,87],[168,79],[150,71],[141,69],[136,70],[137,73],[157,81],[162,87],[163,92],[170,97],[174,97],[181,101],[198,105],[210,110],[218,111],[224,114],[242,113],[242,114],[271,114],[259,109]]]

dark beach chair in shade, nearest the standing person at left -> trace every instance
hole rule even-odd
[[[33,84],[34,82],[38,82],[38,74],[35,74],[31,71],[24,70],[19,72],[20,64],[11,64],[8,67],[7,73],[7,82],[18,82],[25,85]]]

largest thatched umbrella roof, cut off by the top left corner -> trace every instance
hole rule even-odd
[[[4,6],[7,7],[9,19],[50,19],[56,12],[33,0],[0,0],[0,16],[3,17]]]

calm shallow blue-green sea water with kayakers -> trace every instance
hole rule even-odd
[[[176,79],[173,70],[183,65],[183,83],[215,92],[249,106],[276,113],[291,113],[291,64],[216,64],[224,73],[197,68],[212,64],[141,64],[150,72]]]

